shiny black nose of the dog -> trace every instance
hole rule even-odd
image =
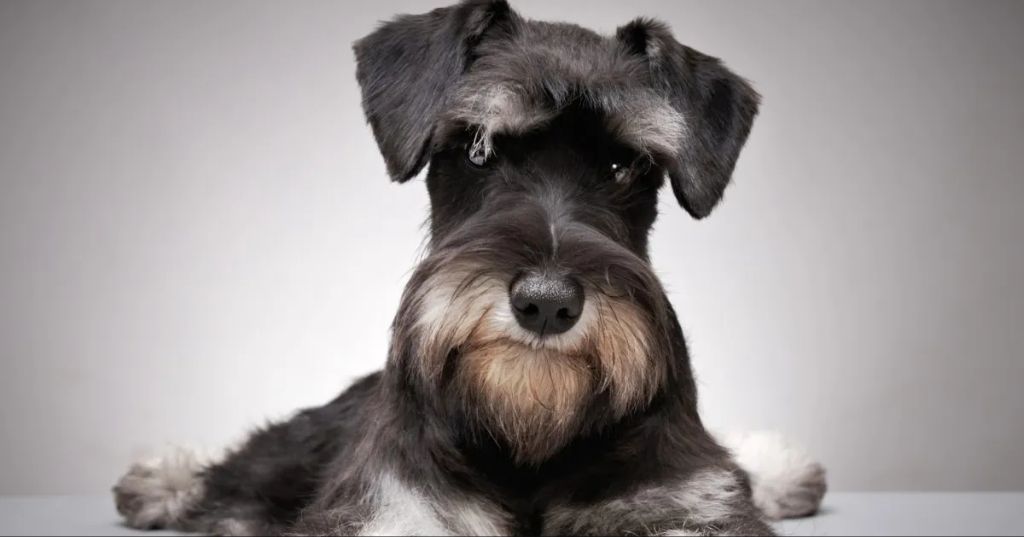
[[[571,278],[527,274],[509,294],[519,326],[542,336],[572,328],[583,313],[583,286]]]

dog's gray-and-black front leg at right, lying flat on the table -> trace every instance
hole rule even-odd
[[[545,535],[774,535],[735,472],[710,468],[592,503],[551,507]]]

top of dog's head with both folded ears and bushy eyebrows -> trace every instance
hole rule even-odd
[[[504,1],[398,17],[355,53],[367,118],[394,180],[416,175],[453,130],[477,131],[489,153],[496,134],[521,134],[584,105],[668,171],[696,218],[722,198],[760,99],[664,23],[638,18],[601,36],[523,18]]]

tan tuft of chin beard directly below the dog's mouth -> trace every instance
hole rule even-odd
[[[474,341],[459,362],[481,424],[524,463],[571,440],[598,385],[587,357],[511,338]]]

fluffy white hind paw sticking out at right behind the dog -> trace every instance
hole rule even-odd
[[[749,432],[723,439],[751,476],[754,503],[770,519],[814,514],[827,485],[825,469],[777,432]]]

